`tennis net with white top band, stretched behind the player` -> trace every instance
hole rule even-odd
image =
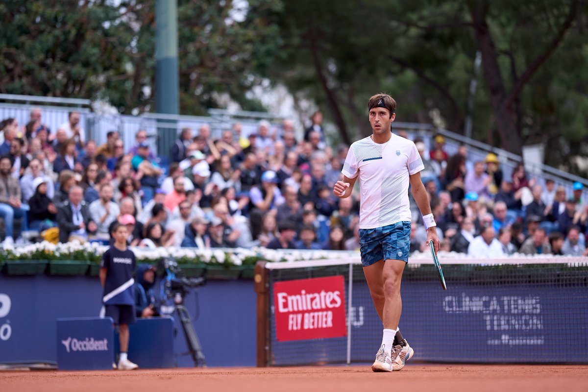
[[[541,260],[441,260],[446,291],[432,260],[411,260],[399,327],[414,360],[588,363],[588,260]],[[382,321],[359,260],[262,262],[255,282],[258,366],[375,358]]]

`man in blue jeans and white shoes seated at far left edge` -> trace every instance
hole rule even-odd
[[[26,212],[21,205],[21,185],[11,174],[8,156],[0,158],[0,216],[4,219],[6,237],[4,244],[13,244],[14,218],[21,218],[21,232],[27,229]]]

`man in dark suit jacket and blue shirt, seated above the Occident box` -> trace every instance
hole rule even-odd
[[[79,240],[85,242],[88,236],[98,229],[92,220],[88,205],[82,200],[82,188],[74,185],[69,188],[68,199],[57,210],[59,242]]]

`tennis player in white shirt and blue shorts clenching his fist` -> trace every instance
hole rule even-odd
[[[359,244],[370,294],[384,326],[382,344],[373,371],[402,370],[414,350],[399,333],[402,311],[400,281],[408,262],[410,221],[408,189],[423,215],[427,244],[439,250],[436,223],[420,171],[425,168],[415,143],[392,133],[396,101],[377,94],[368,101],[372,135],[349,148],[343,180],[333,187],[335,196],[351,195],[359,178]]]

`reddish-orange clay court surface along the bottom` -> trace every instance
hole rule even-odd
[[[588,366],[415,364],[394,373],[372,373],[369,365],[75,372],[2,371],[0,391],[586,392]]]

